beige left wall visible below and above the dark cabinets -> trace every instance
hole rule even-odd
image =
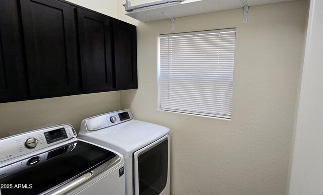
[[[117,18],[117,1],[70,0],[74,4]],[[42,125],[71,123],[120,109],[120,91],[0,103],[0,138]]]

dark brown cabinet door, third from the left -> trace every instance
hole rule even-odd
[[[110,18],[77,8],[82,85],[85,92],[114,87]]]

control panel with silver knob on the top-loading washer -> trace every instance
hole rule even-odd
[[[75,137],[76,132],[73,127],[70,124],[63,124],[0,139],[0,162],[62,143]],[[31,163],[35,162],[36,160]]]

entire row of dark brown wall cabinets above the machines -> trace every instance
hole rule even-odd
[[[65,0],[0,0],[0,103],[135,89],[136,36]]]

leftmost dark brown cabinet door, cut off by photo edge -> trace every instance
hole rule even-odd
[[[17,1],[0,1],[0,102],[27,97],[18,7]]]

